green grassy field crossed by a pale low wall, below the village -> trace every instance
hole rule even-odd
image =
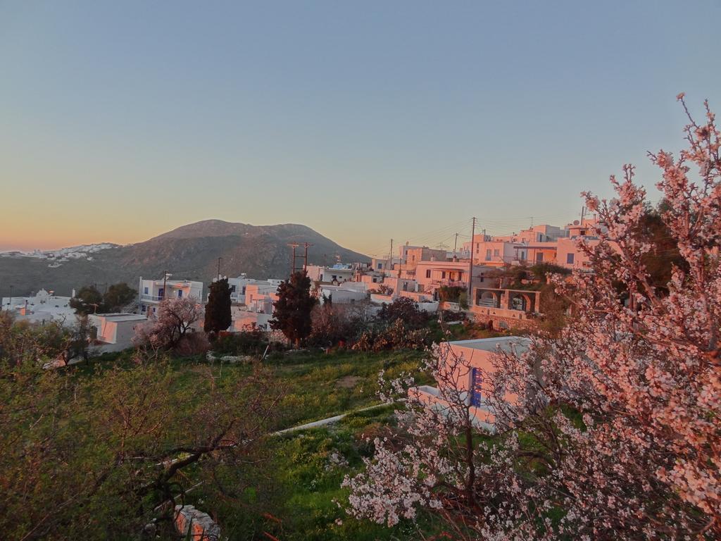
[[[417,373],[422,353],[294,353],[278,356],[273,367],[286,395],[279,405],[283,428],[379,403],[379,371],[386,377]],[[244,370],[224,366],[219,371]],[[423,377],[422,374],[421,377]],[[340,422],[276,436],[268,443],[269,478],[255,481],[244,493],[247,511],[238,513],[236,502],[209,501],[195,494],[197,506],[216,511],[224,534],[234,540],[266,537],[280,540],[392,540],[417,539],[417,525],[388,529],[348,516],[336,501],[347,498],[340,487],[345,475],[357,472],[363,457],[371,455],[368,441],[394,423],[394,406],[352,413]],[[266,486],[259,493],[257,486]],[[430,524],[424,524],[428,531]]]

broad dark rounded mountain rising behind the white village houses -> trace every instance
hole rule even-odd
[[[159,278],[164,271],[173,279],[200,280],[206,284],[221,273],[252,278],[286,278],[291,268],[290,242],[309,242],[308,263],[330,265],[368,261],[331,239],[298,224],[253,226],[222,220],[204,220],[178,227],[137,244],[93,245],[79,249],[22,254],[0,254],[0,296],[30,294],[40,288],[69,295],[88,283],[99,289],[119,281],[137,289],[138,278]],[[296,251],[302,255],[303,247]],[[68,257],[68,254],[73,254]],[[296,266],[302,260],[296,261]]]

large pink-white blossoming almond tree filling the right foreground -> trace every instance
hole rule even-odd
[[[444,390],[469,363],[436,350],[447,407],[410,392],[398,437],[376,440],[345,481],[351,514],[394,524],[425,506],[458,537],[497,540],[721,536],[720,134],[708,105],[704,123],[689,122],[677,158],[650,154],[681,255],[671,282],[654,286],[645,267],[646,194],[626,166],[611,177],[616,198],[584,194],[598,242],[579,241],[592,272],[556,279],[567,327],[526,353],[499,351],[484,374],[496,433]]]

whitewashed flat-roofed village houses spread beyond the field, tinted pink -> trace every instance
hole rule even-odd
[[[402,297],[410,299],[423,312],[462,311],[489,328],[508,330],[532,325],[543,317],[540,293],[534,289],[512,289],[508,286],[510,280],[497,276],[495,271],[538,264],[588,271],[588,255],[580,249],[578,241],[593,245],[597,240],[595,225],[594,219],[583,218],[564,227],[540,224],[506,236],[474,234],[473,242],[463,242],[453,251],[406,242],[397,245],[393,255],[386,258],[332,266],[306,263],[298,251],[293,256],[297,263],[293,264],[298,265],[296,271],[302,269],[310,278],[311,294],[319,304],[330,301],[355,305],[368,317],[374,317],[384,304]],[[87,253],[106,246],[110,245],[91,250],[81,247],[85,250],[68,253],[75,258],[89,257]],[[41,257],[43,253],[35,252],[31,257]],[[51,260],[61,257],[67,257],[63,250],[50,255]],[[222,278],[228,282],[232,303],[232,323],[226,331],[240,333],[255,328],[273,334],[270,327],[273,307],[278,301],[278,286],[286,278],[245,275]],[[98,313],[97,306],[89,311],[92,353],[131,348],[136,325],[155,317],[166,299],[194,299],[199,307],[208,301],[206,284],[173,276],[170,271],[158,278],[138,277],[136,291],[136,299],[128,302],[123,312]],[[56,296],[53,290],[41,289],[28,296],[3,297],[2,307],[18,320],[75,325],[76,309],[70,303],[73,297],[74,294]],[[193,330],[202,328],[202,319],[193,322]],[[283,340],[282,333],[275,333],[275,338]]]

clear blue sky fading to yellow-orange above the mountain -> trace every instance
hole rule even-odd
[[[223,219],[384,255],[578,219],[721,110],[721,2],[0,0],[0,250]]]

